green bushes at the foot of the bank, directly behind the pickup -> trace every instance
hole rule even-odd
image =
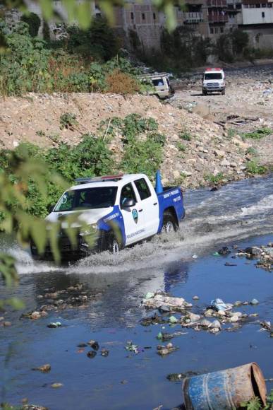
[[[76,121],[71,113],[61,116],[63,127],[71,127],[71,119]],[[45,190],[40,189],[41,178],[37,179],[35,169],[30,170],[24,180],[26,189],[24,209],[30,215],[44,217],[49,207],[56,203],[63,185],[56,185],[52,175],[60,175],[68,185],[72,185],[77,177],[92,177],[105,175],[111,172],[145,172],[153,177],[160,168],[163,159],[163,147],[166,141],[164,134],[158,131],[158,124],[152,118],[143,118],[140,115],[128,115],[125,119],[114,118],[103,122],[99,127],[98,136],[85,134],[76,146],[59,144],[50,149],[40,148],[30,143],[19,144],[13,151],[0,151],[0,172],[7,175],[13,185],[20,183],[14,164],[28,163],[28,160],[39,163],[42,167]],[[106,130],[108,128],[108,138]],[[116,133],[121,134],[123,141],[123,157],[116,163],[107,143]],[[44,134],[43,134],[44,135]],[[52,136],[51,139],[58,136]],[[0,174],[1,175],[1,174]],[[16,210],[18,199],[9,201],[9,209]]]

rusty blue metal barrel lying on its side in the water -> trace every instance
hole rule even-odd
[[[238,409],[255,396],[266,404],[265,379],[256,363],[186,377],[182,388],[186,410]]]

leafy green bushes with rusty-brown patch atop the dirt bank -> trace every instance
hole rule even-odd
[[[49,49],[47,42],[30,36],[26,23],[18,24],[12,33],[7,33],[5,26],[0,27],[0,35],[9,49],[0,59],[1,95],[103,92],[107,87],[111,92],[121,90],[125,94],[140,89],[135,79],[138,70],[124,58],[90,63],[66,49]]]

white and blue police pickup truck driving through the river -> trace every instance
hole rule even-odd
[[[47,221],[61,221],[59,248],[63,259],[84,257],[97,251],[119,252],[123,247],[140,242],[164,230],[176,231],[185,216],[180,187],[163,188],[157,172],[156,188],[147,175],[107,175],[81,178],[64,192],[47,216]],[[77,246],[71,247],[66,235],[65,218],[80,213],[90,230],[78,232]],[[95,232],[95,245],[90,248],[86,235]],[[35,259],[37,247],[31,245]],[[42,259],[51,258],[48,246]]]

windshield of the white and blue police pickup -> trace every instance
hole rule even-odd
[[[117,187],[94,187],[67,191],[59,200],[54,212],[99,209],[114,206]]]

